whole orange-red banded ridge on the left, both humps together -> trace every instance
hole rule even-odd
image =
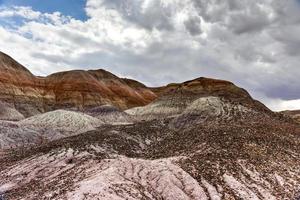
[[[0,100],[24,116],[59,109],[110,104],[120,109],[143,106],[156,95],[143,84],[105,70],[74,70],[36,77],[0,52]]]

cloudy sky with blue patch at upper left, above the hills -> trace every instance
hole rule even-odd
[[[298,0],[0,0],[0,51],[36,75],[219,78],[276,111],[300,109],[299,35]]]

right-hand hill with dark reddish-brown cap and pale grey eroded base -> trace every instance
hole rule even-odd
[[[216,115],[252,110],[272,112],[249,93],[229,81],[198,78],[180,84],[152,88],[159,97],[152,103],[126,112],[146,118],[166,117],[187,113],[206,112]]]

